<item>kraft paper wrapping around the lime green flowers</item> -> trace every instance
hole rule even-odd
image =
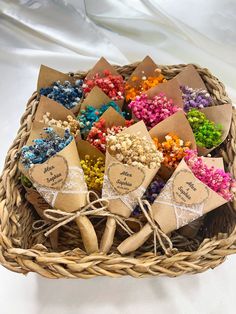
[[[222,125],[222,136],[221,136],[220,144],[223,143],[229,134],[229,129],[230,129],[231,120],[232,120],[232,105],[225,104],[225,105],[219,105],[219,106],[206,107],[206,108],[200,109],[199,111],[202,111],[203,113],[205,113],[208,120],[213,121],[215,124]],[[207,149],[205,147],[198,146],[197,150],[198,150],[199,155],[205,156],[209,154],[215,148],[216,147]]]

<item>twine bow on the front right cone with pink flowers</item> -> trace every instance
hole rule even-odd
[[[154,254],[155,255],[157,254],[157,241],[159,241],[160,246],[164,250],[165,254],[169,255],[170,251],[173,249],[173,244],[172,244],[170,238],[161,230],[161,228],[155,222],[152,206],[150,205],[150,203],[147,200],[142,200],[141,198],[138,198],[138,203],[139,203],[139,206],[140,206],[145,218],[147,219],[147,222],[149,223],[149,225],[151,226],[151,228],[153,230]],[[144,205],[147,206],[148,212],[145,209]],[[165,240],[167,242],[168,246],[165,245],[163,240]]]

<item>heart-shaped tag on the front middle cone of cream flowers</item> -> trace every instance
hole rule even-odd
[[[145,178],[142,169],[120,163],[111,164],[107,175],[114,190],[121,195],[137,190]]]

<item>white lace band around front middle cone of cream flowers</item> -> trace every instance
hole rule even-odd
[[[102,197],[108,200],[120,199],[123,203],[125,203],[130,211],[133,211],[133,209],[136,207],[136,205],[138,204],[137,199],[142,197],[144,192],[145,189],[140,186],[135,191],[132,191],[125,195],[120,195],[113,189],[108,176],[104,176]]]

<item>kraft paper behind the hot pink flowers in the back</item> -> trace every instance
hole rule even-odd
[[[157,86],[150,88],[148,91],[143,92],[143,94],[146,94],[149,99],[159,95],[160,93],[164,93],[168,99],[173,100],[175,106],[183,109],[184,105],[182,99],[182,92],[180,90],[180,85],[176,78],[158,84]]]

